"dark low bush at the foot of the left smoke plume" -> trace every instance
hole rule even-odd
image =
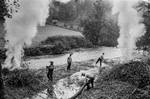
[[[41,75],[37,75],[34,71],[29,69],[15,69],[13,71],[9,71],[5,68],[2,73],[5,75],[5,85],[12,88],[39,85],[39,82],[36,79],[42,79]]]

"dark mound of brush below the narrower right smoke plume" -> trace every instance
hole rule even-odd
[[[150,67],[144,62],[130,62],[115,66],[104,80],[120,80],[129,82],[139,88],[150,84]]]

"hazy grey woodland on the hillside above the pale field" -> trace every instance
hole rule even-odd
[[[47,23],[51,23],[52,20],[79,23],[80,19],[91,13],[94,1],[71,0],[68,3],[61,3],[53,0],[49,9],[50,16]]]

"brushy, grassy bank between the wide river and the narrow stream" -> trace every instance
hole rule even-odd
[[[70,72],[66,71],[67,65],[55,66],[53,84],[59,79],[68,77],[75,72],[91,68],[92,62],[93,61],[76,62],[72,65]],[[31,97],[49,87],[45,68],[39,70],[24,69],[14,71],[3,69],[3,75],[6,99]]]

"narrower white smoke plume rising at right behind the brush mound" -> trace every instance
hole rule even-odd
[[[122,49],[122,61],[127,62],[132,58],[132,51],[136,48],[136,41],[144,35],[145,26],[142,14],[138,13],[135,5],[140,0],[113,0],[113,14],[118,13],[120,37],[118,47]]]

